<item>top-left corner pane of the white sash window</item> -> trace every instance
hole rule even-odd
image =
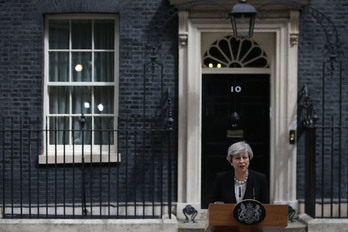
[[[50,20],[48,33],[50,49],[69,48],[69,21]]]

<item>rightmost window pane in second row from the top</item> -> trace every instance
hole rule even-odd
[[[96,52],[94,56],[94,79],[97,82],[114,81],[114,53]]]

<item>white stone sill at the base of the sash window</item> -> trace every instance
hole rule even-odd
[[[53,153],[53,154],[52,154]],[[39,155],[39,164],[81,164],[81,154],[54,154],[49,152],[48,155]],[[121,153],[85,153],[84,163],[120,163]]]

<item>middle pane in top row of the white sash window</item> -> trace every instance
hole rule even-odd
[[[92,21],[73,20],[71,21],[72,49],[92,48]]]

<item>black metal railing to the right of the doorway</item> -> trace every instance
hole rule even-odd
[[[313,218],[348,218],[348,126],[342,120],[342,92],[338,101],[326,104],[325,90],[318,117],[309,91],[303,87],[305,212]],[[335,107],[337,114],[325,113]]]

